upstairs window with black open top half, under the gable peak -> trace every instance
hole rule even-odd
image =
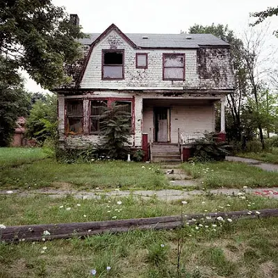
[[[124,50],[102,51],[102,79],[124,79]]]

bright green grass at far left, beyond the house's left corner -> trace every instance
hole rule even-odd
[[[0,170],[4,167],[14,167],[24,163],[32,163],[49,156],[41,148],[19,148],[1,147],[0,148]]]

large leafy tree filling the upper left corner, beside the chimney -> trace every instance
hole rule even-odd
[[[51,0],[0,1],[0,54],[43,88],[67,81],[63,63],[79,57],[80,30]]]

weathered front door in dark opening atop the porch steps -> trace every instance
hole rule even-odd
[[[168,142],[170,111],[167,107],[156,107],[154,109],[154,124],[156,142]]]

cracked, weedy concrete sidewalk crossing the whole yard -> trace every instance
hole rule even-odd
[[[52,198],[63,198],[71,195],[76,199],[100,199],[101,197],[126,197],[133,195],[134,197],[142,197],[149,199],[156,197],[163,201],[172,201],[177,199],[189,199],[195,195],[206,195],[211,193],[213,195],[244,195],[254,194],[265,197],[273,197],[278,199],[278,187],[275,188],[221,188],[212,190],[60,190],[52,188],[44,188],[37,190],[0,190],[0,195],[17,195],[20,197],[35,197],[38,195],[46,195]]]

